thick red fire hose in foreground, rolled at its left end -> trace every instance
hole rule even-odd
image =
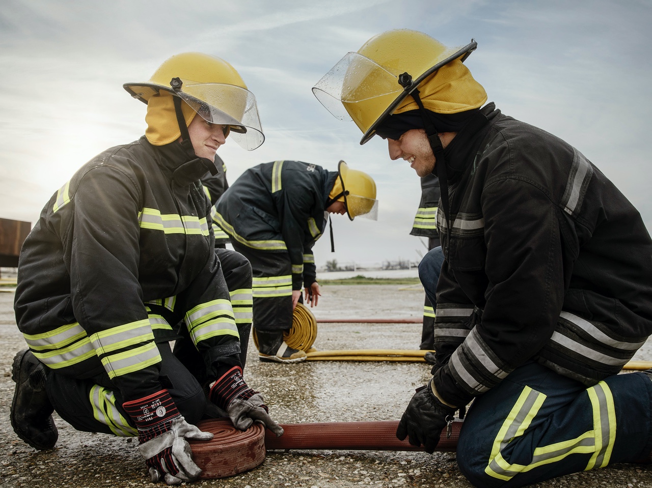
[[[319,422],[281,424],[285,433],[276,437],[271,431],[254,423],[244,432],[238,431],[228,419],[204,420],[202,431],[215,437],[207,441],[190,441],[195,463],[200,466],[200,478],[212,480],[235,476],[255,468],[265,459],[265,450],[370,450],[422,451],[406,440],[396,438],[396,420],[377,422]],[[462,422],[451,424],[451,436],[441,433],[437,451],[454,452],[460,437]]]

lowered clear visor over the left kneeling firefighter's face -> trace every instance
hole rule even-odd
[[[253,93],[226,83],[182,81],[181,90],[174,93],[205,121],[230,126],[231,138],[247,151],[265,141]]]

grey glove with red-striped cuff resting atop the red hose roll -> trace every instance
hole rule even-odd
[[[244,382],[240,366],[233,366],[213,383],[209,399],[220,409],[226,410],[235,428],[241,431],[248,429],[256,420],[276,434],[276,437],[283,435],[283,428],[269,416],[263,395]]]

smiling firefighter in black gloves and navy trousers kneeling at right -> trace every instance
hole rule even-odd
[[[482,106],[462,63],[475,47],[389,31],[314,88],[363,143],[378,134],[391,159],[439,177],[436,289],[431,253],[419,266],[437,363],[396,435],[433,452],[473,400],[457,461],[476,486],[649,462],[652,371],[617,373],[652,332],[652,240],[580,151]]]

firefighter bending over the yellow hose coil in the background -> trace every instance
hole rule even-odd
[[[331,214],[376,220],[376,183],[340,161],[327,171],[301,161],[276,161],[245,171],[216,205],[215,221],[243,253],[254,274],[254,331],[259,359],[295,363],[306,352],[288,347],[284,332],[301,300],[316,306],[319,284],[312,246]],[[333,228],[331,227],[331,245]]]

